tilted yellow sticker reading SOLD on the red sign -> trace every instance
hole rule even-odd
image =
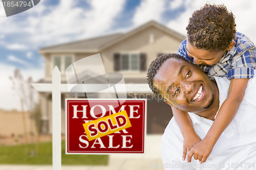
[[[83,124],[89,141],[130,128],[131,126],[130,119],[125,110]]]

